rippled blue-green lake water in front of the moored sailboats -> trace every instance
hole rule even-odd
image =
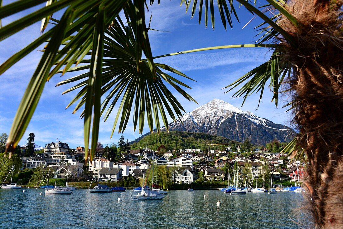
[[[131,190],[86,191],[44,195],[44,190],[35,188],[0,189],[0,228],[294,229],[299,228],[299,219],[304,221],[301,211],[292,212],[303,205],[301,193],[229,195],[215,190],[169,190],[163,200],[132,201]],[[309,227],[304,222],[301,226]]]

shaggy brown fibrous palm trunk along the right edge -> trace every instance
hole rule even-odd
[[[308,157],[307,197],[316,228],[343,228],[343,36],[342,1],[296,1],[300,26],[283,26],[298,48],[286,58],[294,66],[299,146]]]

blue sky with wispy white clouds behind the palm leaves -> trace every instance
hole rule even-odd
[[[3,5],[12,1],[3,1]],[[156,1],[157,3],[157,1]],[[209,19],[209,27],[205,28],[204,21],[198,24],[198,16],[191,19],[190,12],[185,14],[185,6],[180,7],[180,1],[161,1],[160,5],[154,4],[146,12],[146,21],[149,22],[150,14],[152,14],[151,28],[170,32],[149,31],[149,39],[152,46],[153,56],[174,53],[177,51],[218,46],[231,44],[251,44],[256,41],[254,37],[257,32],[253,31],[253,27],[260,24],[261,21],[256,18],[248,24],[243,30],[242,27],[253,18],[246,9],[237,9],[240,23],[234,21],[234,28],[224,30],[219,15],[215,18],[215,30],[212,30],[211,20]],[[237,4],[237,3],[236,3]],[[261,4],[261,3],[260,3]],[[42,4],[41,6],[44,6]],[[20,18],[21,16],[33,11],[30,9],[25,12],[5,18],[2,21],[3,25]],[[217,8],[215,8],[217,11]],[[58,18],[59,13],[54,17]],[[4,62],[11,55],[22,49],[24,46],[32,42],[40,35],[40,22],[33,24],[22,30],[21,32],[11,36],[0,42],[0,62]],[[40,47],[39,49],[42,49]],[[24,94],[27,83],[35,70],[40,56],[39,51],[33,51],[31,54],[23,58],[20,62],[14,65],[11,69],[0,76],[0,133],[9,133],[15,112]],[[156,62],[164,63],[174,67],[187,76],[193,78],[197,82],[184,80],[190,85],[192,90],[186,91],[199,103],[189,102],[175,91],[176,98],[184,106],[186,112],[190,112],[200,105],[211,101],[214,98],[224,100],[234,106],[240,107],[242,100],[230,98],[233,93],[224,94],[222,87],[233,82],[238,77],[244,75],[249,70],[260,65],[267,60],[270,52],[265,48],[240,48],[240,49],[222,49],[211,50],[192,54],[183,54],[171,57],[156,59]],[[65,107],[73,98],[75,93],[62,95],[61,93],[68,89],[68,85],[55,87],[56,83],[67,79],[73,74],[64,76],[56,75],[46,83],[43,95],[38,103],[33,118],[20,141],[20,145],[26,143],[29,133],[35,134],[35,142],[40,146],[45,146],[48,142],[59,140],[67,142],[70,147],[83,146],[83,120],[79,118],[80,112],[72,114],[73,107]],[[179,78],[180,79],[180,78]],[[275,108],[271,102],[272,94],[269,90],[265,90],[264,98],[256,110],[259,95],[252,95],[245,102],[241,110],[251,111],[260,117],[267,118],[275,123],[281,123],[290,126],[291,117],[289,114],[284,114],[285,109]],[[287,97],[281,97],[279,107],[286,103]],[[115,131],[112,139],[110,133],[113,126],[113,121],[116,115],[116,110],[111,117],[104,123],[100,123],[99,141],[104,145],[117,143],[121,134]],[[132,118],[130,119],[132,120]],[[170,119],[169,122],[172,120]],[[138,131],[133,132],[131,125],[132,121],[123,133],[125,139],[132,141],[140,135]],[[149,132],[145,125],[143,134]]]

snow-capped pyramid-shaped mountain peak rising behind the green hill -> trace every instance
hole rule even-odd
[[[251,143],[261,145],[274,138],[281,142],[290,141],[296,134],[285,125],[275,124],[218,99],[184,114],[180,119],[182,122],[177,120],[170,123],[169,130],[202,132],[237,141],[249,138]],[[165,127],[161,130],[165,130]]]

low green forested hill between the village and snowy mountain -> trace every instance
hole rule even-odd
[[[153,150],[157,150],[159,146],[164,145],[167,150],[202,149],[205,151],[206,149],[208,149],[207,142],[210,142],[211,144],[232,144],[236,141],[232,141],[226,137],[214,136],[204,133],[194,133],[186,131],[169,131],[168,133],[166,131],[161,131],[159,135],[157,133],[153,133],[134,140],[133,142],[131,142],[131,149],[143,149],[146,146],[146,142],[148,143],[148,148],[151,148]],[[211,149],[214,148],[211,147]]]

